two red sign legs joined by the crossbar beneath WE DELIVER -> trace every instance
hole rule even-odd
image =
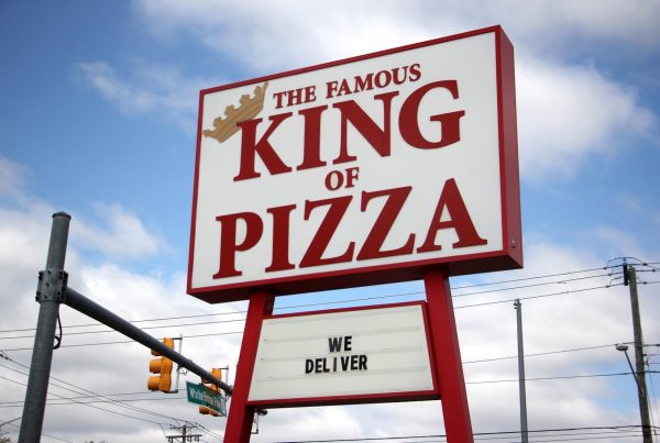
[[[224,432],[228,442],[246,443],[250,441],[252,421],[257,408],[286,408],[296,406],[322,406],[340,403],[360,403],[377,401],[406,401],[439,398],[444,418],[444,428],[448,442],[473,443],[470,408],[463,379],[463,366],[459,336],[457,334],[455,319],[449,278],[441,268],[425,270],[424,283],[427,292],[426,319],[428,320],[427,336],[430,336],[429,354],[433,369],[432,392],[415,392],[404,396],[353,396],[352,398],[316,398],[290,399],[276,401],[249,401],[252,375],[258,350],[263,321],[272,317],[275,295],[260,290],[252,294],[245,319],[245,332],[241,343],[241,356],[237,373],[234,391],[231,399],[230,411]]]

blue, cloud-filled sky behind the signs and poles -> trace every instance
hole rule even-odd
[[[499,24],[516,54],[525,267],[450,279],[473,430],[518,439],[502,433],[519,429],[519,298],[530,441],[639,441],[615,344],[632,341],[626,257],[660,427],[658,16],[657,0],[0,0],[0,435],[18,440],[57,211],[72,215],[72,288],[183,336],[233,383],[246,303],[186,295],[201,89]],[[275,311],[424,298],[409,281],[279,297]],[[186,422],[221,441],[226,418],[146,391],[147,350],[68,307],[61,320],[43,442],[162,442]],[[251,441],[443,434],[440,402],[419,401],[271,410]]]

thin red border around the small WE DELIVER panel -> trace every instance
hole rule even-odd
[[[265,315],[263,318],[263,321],[272,320],[272,319],[290,318],[290,317],[305,317],[305,315],[327,314],[327,313],[338,313],[338,312],[400,308],[400,307],[406,307],[406,306],[421,307],[421,317],[424,320],[425,336],[427,340],[427,351],[429,354],[428,355],[429,364],[430,364],[431,377],[432,377],[432,381],[433,381],[432,389],[420,390],[420,391],[400,391],[400,392],[384,392],[384,394],[324,396],[324,397],[319,396],[319,397],[302,397],[302,398],[253,400],[253,401],[249,400],[248,405],[267,407],[267,408],[295,408],[295,407],[309,407],[309,406],[359,405],[359,403],[361,405],[361,403],[382,403],[382,402],[394,402],[394,401],[416,401],[416,400],[421,401],[421,400],[438,400],[438,399],[440,399],[440,390],[438,388],[438,380],[436,377],[436,374],[437,374],[436,358],[433,358],[433,345],[431,342],[428,308],[427,308],[426,301],[407,301],[407,302],[400,302],[400,303],[388,303],[388,304],[377,304],[377,306],[328,309],[328,310],[320,310],[320,311],[272,314],[272,315]],[[261,340],[261,336],[260,336],[260,340]]]

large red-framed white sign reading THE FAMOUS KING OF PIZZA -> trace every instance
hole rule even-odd
[[[188,292],[211,302],[521,266],[501,27],[200,93]]]

